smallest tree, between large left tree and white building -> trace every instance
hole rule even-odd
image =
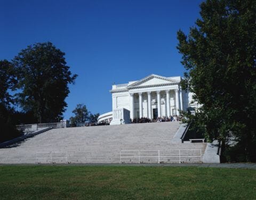
[[[75,127],[76,123],[84,123],[89,120],[89,111],[84,104],[77,104],[75,110],[72,111],[75,116],[69,119],[71,127]]]

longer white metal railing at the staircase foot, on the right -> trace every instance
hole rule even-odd
[[[199,160],[198,160],[199,159]],[[120,163],[124,162],[193,162],[202,163],[202,149],[169,149],[169,150],[122,150]]]

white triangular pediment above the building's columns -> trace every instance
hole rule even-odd
[[[178,82],[170,78],[151,74],[146,78],[143,78],[139,81],[134,82],[129,86],[129,88],[140,87],[140,86],[143,87],[143,86],[151,86],[151,85],[153,86],[153,85],[173,85],[173,84],[178,84]]]

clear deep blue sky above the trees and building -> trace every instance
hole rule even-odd
[[[155,73],[182,76],[177,31],[199,18],[202,0],[57,1],[0,0],[0,60],[51,41],[70,71],[78,74],[65,119],[76,104],[92,113],[111,111],[113,82],[123,84]]]

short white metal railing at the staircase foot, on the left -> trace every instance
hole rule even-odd
[[[36,163],[68,162],[68,152],[37,152]]]

